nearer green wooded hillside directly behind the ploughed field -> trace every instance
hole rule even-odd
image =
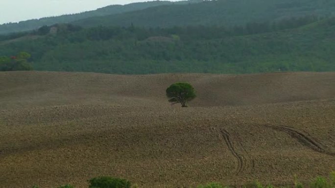
[[[54,27],[57,34],[0,41],[0,56],[24,51],[35,70],[115,74],[335,71],[334,18],[244,27]]]

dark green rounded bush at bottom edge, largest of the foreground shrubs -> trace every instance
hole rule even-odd
[[[131,188],[131,183],[128,180],[109,176],[92,178],[89,183],[89,188]]]

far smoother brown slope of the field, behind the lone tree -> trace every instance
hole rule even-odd
[[[195,87],[198,98],[191,102],[193,107],[321,100],[334,98],[335,93],[334,72],[109,75],[23,71],[0,72],[0,78],[0,102],[5,106],[15,106],[23,101],[28,102],[27,105],[44,102],[56,105],[68,100],[75,103],[101,104],[103,100],[102,103],[106,104],[168,106],[165,89],[176,82],[189,82]],[[65,101],[62,98],[50,100],[62,95]],[[31,100],[26,100],[28,98]],[[120,103],[117,99],[125,102]]]

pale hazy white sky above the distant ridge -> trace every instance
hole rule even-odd
[[[151,0],[0,0],[0,24]],[[177,0],[171,0],[177,1]]]

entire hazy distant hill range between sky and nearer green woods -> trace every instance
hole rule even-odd
[[[83,27],[130,26],[241,26],[305,16],[332,17],[332,0],[185,0],[150,1],[111,5],[73,15],[49,17],[0,25],[0,34],[37,29],[44,25],[72,23]]]

